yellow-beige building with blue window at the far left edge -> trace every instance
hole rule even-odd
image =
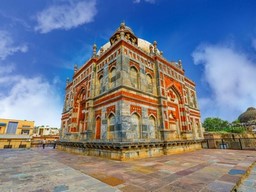
[[[30,148],[34,121],[0,118],[0,149]]]

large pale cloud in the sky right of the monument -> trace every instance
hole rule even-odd
[[[256,106],[256,63],[249,56],[224,45],[199,46],[192,56],[195,64],[203,64],[203,78],[212,92],[199,98],[203,118],[232,121]]]

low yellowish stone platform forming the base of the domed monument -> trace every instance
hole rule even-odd
[[[202,149],[202,140],[151,142],[60,141],[59,149],[71,153],[127,161]]]

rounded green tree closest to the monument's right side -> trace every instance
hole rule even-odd
[[[228,121],[218,117],[207,117],[203,122],[206,131],[222,131],[229,127]]]

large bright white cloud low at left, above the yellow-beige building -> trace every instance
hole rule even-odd
[[[13,69],[12,69],[13,70]],[[60,127],[62,99],[57,85],[42,77],[27,78],[12,70],[0,76],[0,117]]]

